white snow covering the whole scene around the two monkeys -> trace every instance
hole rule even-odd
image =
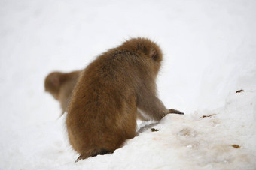
[[[0,169],[256,169],[255,9],[253,0],[0,1]],[[138,36],[163,49],[159,96],[185,115],[74,163],[44,77]]]

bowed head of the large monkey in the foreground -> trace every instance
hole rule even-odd
[[[151,67],[151,70],[154,70],[154,74],[157,76],[161,61],[163,60],[163,54],[156,43],[148,38],[138,37],[127,40],[120,46],[120,48],[128,49],[130,52],[135,52],[139,56],[147,58],[147,61],[149,61],[148,66]]]

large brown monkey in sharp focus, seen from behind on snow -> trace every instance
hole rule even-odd
[[[162,52],[145,38],[127,40],[99,55],[75,85],[66,118],[69,142],[80,156],[112,153],[136,136],[137,109],[154,121],[168,113],[157,97]]]

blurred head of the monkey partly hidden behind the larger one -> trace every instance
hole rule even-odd
[[[60,72],[50,73],[44,80],[44,89],[53,95],[56,100],[59,100],[59,89],[61,86],[61,76]]]

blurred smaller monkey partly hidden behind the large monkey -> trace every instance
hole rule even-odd
[[[72,91],[78,82],[78,77],[81,71],[73,71],[71,73],[53,72],[50,73],[44,80],[45,91],[53,95],[56,100],[59,100],[62,114],[66,112]]]

